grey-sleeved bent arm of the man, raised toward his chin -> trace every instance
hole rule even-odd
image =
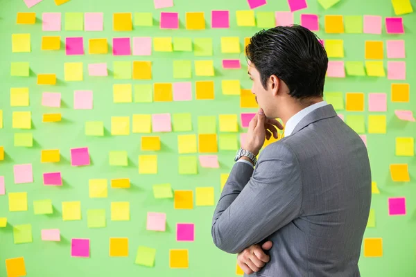
[[[300,213],[302,177],[291,150],[268,146],[251,172],[247,163],[234,164],[214,213],[214,244],[228,253],[261,242]]]

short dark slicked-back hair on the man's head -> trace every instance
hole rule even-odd
[[[261,30],[250,39],[245,53],[265,89],[268,78],[276,75],[294,98],[323,96],[327,52],[309,29],[293,25]]]

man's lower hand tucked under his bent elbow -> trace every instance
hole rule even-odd
[[[270,257],[266,255],[263,250],[270,250],[273,243],[268,241],[264,242],[263,245],[254,244],[251,247],[246,248],[243,252],[237,256],[237,263],[243,269],[245,274],[252,274],[257,272],[269,262]]]

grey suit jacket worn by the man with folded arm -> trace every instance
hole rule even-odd
[[[268,145],[254,170],[234,164],[212,238],[228,253],[271,240],[270,262],[257,276],[360,276],[370,202],[367,148],[327,105]]]

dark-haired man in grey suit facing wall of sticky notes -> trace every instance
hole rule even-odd
[[[260,109],[216,206],[214,243],[239,253],[245,274],[360,276],[370,162],[360,136],[323,100],[324,48],[302,26],[279,26],[255,34],[246,54]],[[284,138],[256,161],[282,129],[273,118]]]

